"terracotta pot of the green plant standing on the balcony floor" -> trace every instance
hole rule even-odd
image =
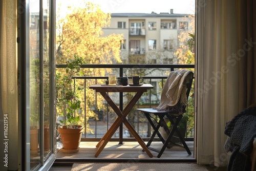
[[[63,148],[61,149],[63,153],[76,153],[79,151],[82,129],[83,126],[78,129],[62,129],[61,126],[58,127],[63,145]]]

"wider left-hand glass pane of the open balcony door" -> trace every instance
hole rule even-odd
[[[30,169],[40,164],[39,0],[30,1]]]

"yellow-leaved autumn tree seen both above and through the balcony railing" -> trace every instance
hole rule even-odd
[[[123,41],[122,34],[111,34],[102,36],[102,28],[110,25],[110,13],[104,13],[99,6],[92,3],[85,3],[79,7],[69,7],[66,17],[57,18],[56,28],[56,63],[63,64],[68,58],[68,53],[79,55],[87,58],[88,64],[111,64],[121,63],[120,45]],[[83,76],[108,76],[112,73],[112,69],[81,69]],[[56,71],[64,72],[61,70]],[[80,86],[84,86],[82,80],[76,79]],[[84,111],[81,112],[80,118],[84,123],[85,119],[96,118],[95,111],[92,106],[95,104],[95,92],[88,89],[90,84],[95,80],[87,80],[86,82],[86,99],[81,95],[80,100],[83,101],[81,106],[86,106],[86,118]],[[97,96],[96,111],[105,111],[106,106],[103,104],[103,97]],[[86,103],[84,103],[86,101]],[[57,111],[62,109],[57,109]],[[89,125],[86,125],[87,132],[92,132]]]

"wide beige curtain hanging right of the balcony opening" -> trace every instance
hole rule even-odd
[[[241,21],[246,20],[241,18],[243,2],[197,1],[196,155],[200,164],[227,165],[226,122],[255,102],[255,47],[250,49],[254,49],[254,54],[248,55],[248,42],[242,38],[242,28],[247,27],[241,26]],[[245,71],[248,63],[252,63],[253,70],[249,77]],[[252,79],[252,84],[247,84],[248,79]],[[250,92],[246,92],[246,87],[250,87]]]

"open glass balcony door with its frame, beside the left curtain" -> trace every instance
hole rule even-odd
[[[47,170],[55,160],[54,7],[54,0],[30,0],[18,22],[25,33],[18,45],[26,75],[23,170]]]

